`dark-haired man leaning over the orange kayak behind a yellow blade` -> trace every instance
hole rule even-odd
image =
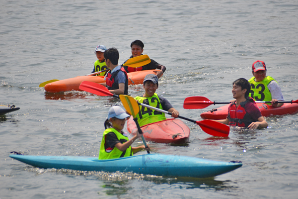
[[[140,55],[143,55],[143,51],[144,51],[144,43],[140,40],[135,40],[131,43],[131,49],[132,49],[132,56],[130,58],[133,57],[137,57]],[[125,61],[127,62],[127,60]],[[125,64],[125,62],[123,64]],[[160,78],[161,75],[164,73],[164,71],[166,70],[165,66],[162,66],[160,64],[158,64],[157,62],[155,62],[154,60],[151,59],[151,62],[145,66],[142,67],[138,67],[138,68],[131,68],[128,66],[124,66],[123,67],[125,69],[125,71],[127,73],[130,72],[135,72],[135,71],[145,71],[145,70],[154,70],[154,69],[160,69],[161,71],[158,71],[156,73],[157,77]]]

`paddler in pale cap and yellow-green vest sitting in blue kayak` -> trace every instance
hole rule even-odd
[[[134,153],[145,148],[144,145],[132,147],[133,142],[142,136],[139,132],[129,139],[127,133],[123,132],[126,120],[130,117],[120,106],[113,106],[110,108],[108,118],[104,122],[106,130],[103,132],[102,141],[99,150],[99,160],[114,159],[132,156]]]

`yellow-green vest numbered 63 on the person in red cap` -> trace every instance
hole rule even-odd
[[[270,76],[267,76],[260,82],[255,82],[255,77],[250,78],[248,82],[251,85],[251,89],[248,96],[256,101],[271,101],[272,96],[267,85],[273,80]]]

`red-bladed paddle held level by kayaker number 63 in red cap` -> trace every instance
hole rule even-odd
[[[271,103],[271,101],[255,101],[257,103]],[[211,104],[229,104],[230,102],[215,102],[210,101],[205,97],[188,97],[185,98],[183,108],[185,109],[201,109],[210,106]],[[291,101],[279,101],[277,103],[298,103],[298,100]]]

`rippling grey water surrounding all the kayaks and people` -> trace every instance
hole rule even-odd
[[[154,153],[242,161],[241,168],[209,179],[44,170],[8,157],[10,151],[98,156],[108,109],[121,102],[39,88],[51,79],[89,74],[98,44],[116,47],[123,63],[131,55],[130,43],[142,40],[144,54],[167,67],[157,94],[192,119],[220,105],[187,110],[186,97],[232,100],[231,83],[252,77],[256,60],[266,63],[286,100],[297,100],[297,1],[6,0],[0,5],[0,104],[20,107],[0,121],[1,199],[297,198],[297,114],[267,117],[267,129],[231,128],[228,138],[212,137],[185,121],[189,143],[149,143]],[[141,95],[142,86],[129,92]]]

